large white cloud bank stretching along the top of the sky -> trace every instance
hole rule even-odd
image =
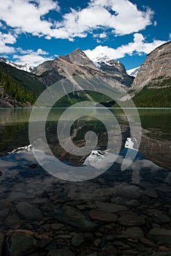
[[[115,34],[131,34],[151,25],[153,12],[137,10],[129,0],[91,0],[82,10],[71,9],[61,20],[45,20],[50,10],[60,10],[53,0],[6,0],[0,2],[0,20],[15,29],[16,33],[31,33],[44,36],[72,39],[86,37],[95,29],[110,31]],[[102,34],[102,33],[99,33]]]

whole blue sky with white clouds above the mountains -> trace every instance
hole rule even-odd
[[[1,0],[0,56],[36,67],[76,48],[126,69],[171,39],[171,1]]]

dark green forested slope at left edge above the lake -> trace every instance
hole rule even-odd
[[[0,107],[31,106],[45,89],[37,76],[0,62]]]

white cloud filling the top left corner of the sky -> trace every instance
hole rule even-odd
[[[31,34],[50,34],[53,26],[43,16],[50,10],[59,10],[58,3],[52,0],[6,0],[0,3],[0,19],[7,26],[17,28],[19,32]]]

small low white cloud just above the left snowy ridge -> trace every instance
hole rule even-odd
[[[15,59],[15,63],[17,64],[29,64],[31,67],[37,67],[37,65],[44,61],[50,61],[51,59],[54,59],[53,57],[49,57],[48,53],[42,49],[34,51],[18,48],[17,50],[19,54],[15,54],[13,56],[13,59]]]

